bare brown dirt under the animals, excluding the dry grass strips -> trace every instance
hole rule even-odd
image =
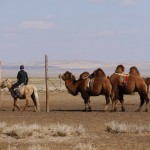
[[[117,112],[111,112],[111,104],[108,112],[103,112],[105,99],[103,96],[91,97],[92,112],[83,112],[84,103],[80,95],[72,96],[67,92],[50,92],[50,112],[45,112],[45,94],[40,93],[41,112],[33,112],[33,103],[26,112],[12,112],[12,97],[4,92],[1,95],[0,120],[8,125],[26,124],[66,124],[79,126],[85,129],[85,135],[79,137],[60,137],[53,139],[13,139],[0,137],[0,149],[6,150],[17,148],[26,150],[32,144],[40,144],[49,149],[71,150],[77,143],[91,143],[96,149],[106,150],[148,150],[150,149],[150,133],[111,133],[106,131],[106,123],[117,121],[136,125],[150,125],[150,112],[135,112],[139,106],[138,95],[125,97],[125,112],[120,112],[118,105]],[[18,100],[19,105],[25,101]],[[145,105],[143,106],[143,109]]]

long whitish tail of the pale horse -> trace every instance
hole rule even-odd
[[[36,87],[33,87],[33,101],[36,106],[36,111],[40,111],[39,95]]]

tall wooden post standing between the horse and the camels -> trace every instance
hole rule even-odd
[[[46,83],[46,112],[49,112],[48,56],[47,55],[45,55],[45,83]]]

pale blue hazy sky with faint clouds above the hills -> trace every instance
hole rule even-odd
[[[150,61],[150,0],[0,0],[0,60]]]

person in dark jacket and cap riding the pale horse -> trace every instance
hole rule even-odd
[[[17,97],[18,95],[18,91],[16,89],[19,87],[19,85],[27,85],[29,81],[28,74],[26,71],[24,71],[24,65],[20,66],[20,71],[17,74],[17,79],[17,82],[12,87],[15,97]]]

